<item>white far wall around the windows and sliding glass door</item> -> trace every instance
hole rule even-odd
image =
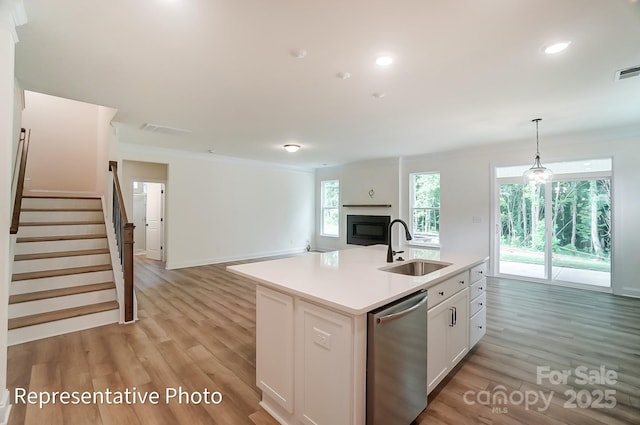
[[[635,257],[640,252],[640,128],[629,129],[628,135],[613,137],[610,132],[590,132],[542,139],[543,163],[594,158],[613,158],[613,291],[619,295],[640,296],[640,280]],[[385,194],[384,200],[394,204],[400,218],[409,220],[409,175],[415,172],[440,172],[441,184],[441,249],[477,255],[492,255],[491,229],[492,170],[496,166],[530,165],[535,145],[531,140],[397,160],[371,161],[317,170],[316,187],[320,181],[339,178],[344,193],[358,187],[361,191],[370,181],[398,179],[399,190]],[[399,174],[391,166],[397,161]],[[381,164],[383,164],[381,166]],[[317,189],[317,190],[318,190]],[[392,185],[388,186],[392,190]],[[318,190],[319,192],[319,190]],[[358,192],[359,193],[359,192]],[[376,191],[377,193],[377,191]],[[319,194],[318,202],[319,202]],[[382,199],[381,199],[382,200]],[[396,209],[399,205],[399,209]],[[342,209],[341,218],[347,210]],[[344,221],[340,240],[318,237],[320,249],[345,246]],[[319,223],[316,232],[319,234]],[[394,232],[394,237],[397,235]],[[402,238],[400,238],[403,243]],[[397,241],[394,240],[397,244]]]

